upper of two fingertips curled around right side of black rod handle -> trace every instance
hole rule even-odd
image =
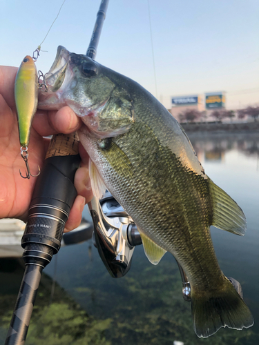
[[[86,204],[88,204],[93,198],[88,168],[82,166],[77,169],[74,184],[77,189],[77,194],[83,196],[86,199]]]

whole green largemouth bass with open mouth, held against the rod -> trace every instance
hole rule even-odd
[[[244,235],[241,208],[213,183],[171,113],[132,79],[59,46],[39,108],[70,106],[84,123],[93,192],[107,188],[140,231],[158,264],[173,254],[191,284],[198,337],[221,327],[241,330],[253,316],[218,264],[210,226]]]

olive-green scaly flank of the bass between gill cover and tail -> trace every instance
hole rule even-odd
[[[184,167],[142,121],[113,142],[128,157],[133,173],[114,150],[100,150],[108,189],[138,228],[178,259],[192,285],[199,290],[218,286],[222,272],[209,233],[208,180]]]

